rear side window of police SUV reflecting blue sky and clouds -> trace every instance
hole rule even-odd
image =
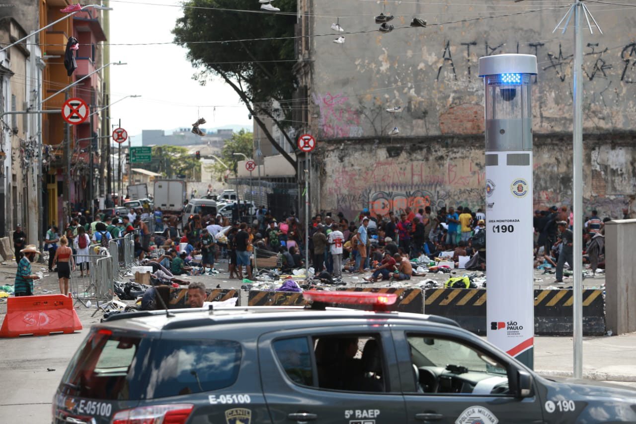
[[[207,392],[235,383],[240,344],[233,341],[162,339],[148,367],[145,397],[156,399]]]

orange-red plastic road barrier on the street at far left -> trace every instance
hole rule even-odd
[[[0,337],[69,334],[81,329],[71,295],[9,297]]]

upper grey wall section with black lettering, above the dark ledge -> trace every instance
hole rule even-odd
[[[328,34],[338,16],[347,32],[369,31],[345,33],[342,45],[332,42],[333,31],[311,39],[308,104],[315,136],[377,137],[394,126],[399,136],[480,134],[478,58],[499,53],[537,55],[535,133],[571,131],[572,24],[566,34],[552,33],[569,5],[396,3],[312,2],[313,34]],[[586,131],[628,131],[636,120],[636,15],[621,6],[588,7],[604,34],[584,31],[583,125]],[[538,9],[544,11],[532,11]],[[373,17],[382,11],[396,16],[390,34],[377,32]],[[429,27],[408,27],[414,16],[428,20]],[[467,22],[458,22],[464,18]],[[385,112],[391,106],[403,111]]]

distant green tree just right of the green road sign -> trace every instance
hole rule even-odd
[[[153,161],[148,168],[167,178],[185,175],[188,180],[197,180],[201,175],[201,162],[181,146],[153,146]]]

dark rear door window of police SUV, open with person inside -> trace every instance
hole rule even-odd
[[[319,388],[347,392],[385,392],[386,375],[380,337],[313,337]]]

